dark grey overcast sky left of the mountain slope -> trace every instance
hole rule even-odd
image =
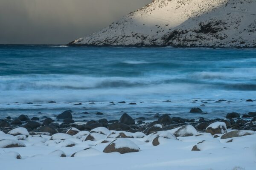
[[[0,0],[0,44],[66,44],[152,0]]]

